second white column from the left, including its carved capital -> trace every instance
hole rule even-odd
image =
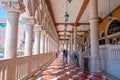
[[[26,33],[25,33],[25,56],[32,55],[32,47],[33,47],[33,26],[34,26],[34,17],[26,17],[24,18],[24,22],[26,23]]]

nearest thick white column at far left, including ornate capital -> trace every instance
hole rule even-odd
[[[17,53],[18,20],[20,12],[24,11],[24,5],[16,0],[1,0],[0,6],[7,11],[8,23],[6,27],[4,58],[14,58]]]

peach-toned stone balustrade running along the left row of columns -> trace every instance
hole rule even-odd
[[[24,80],[53,58],[52,53],[0,60],[0,80]]]

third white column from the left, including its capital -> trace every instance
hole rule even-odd
[[[41,25],[35,25],[35,44],[34,44],[34,54],[40,54],[40,31]]]

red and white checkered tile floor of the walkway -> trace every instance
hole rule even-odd
[[[59,55],[55,61],[42,72],[36,80],[110,80],[101,73],[83,72],[79,67],[62,64],[62,56]]]

